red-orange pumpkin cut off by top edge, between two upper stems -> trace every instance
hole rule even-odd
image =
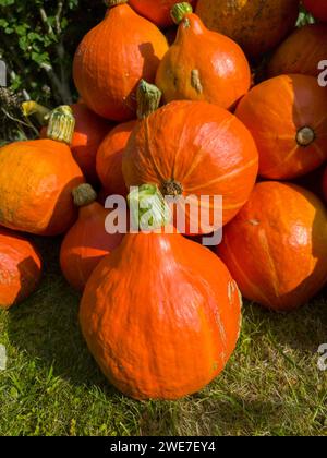
[[[137,11],[138,14],[155,23],[158,27],[168,27],[172,25],[170,11],[178,0],[130,0],[131,7]],[[195,7],[196,1],[189,1]]]

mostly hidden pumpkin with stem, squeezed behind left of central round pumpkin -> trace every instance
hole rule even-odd
[[[160,105],[161,92],[154,85],[142,80],[136,92],[137,118],[144,119],[156,111]],[[104,140],[96,159],[97,174],[108,195],[128,195],[128,189],[122,174],[123,153],[137,120],[117,125]]]

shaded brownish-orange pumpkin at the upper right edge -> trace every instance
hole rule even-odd
[[[268,64],[269,77],[282,74],[317,76],[318,63],[327,56],[327,25],[310,24],[298,28],[276,50]]]

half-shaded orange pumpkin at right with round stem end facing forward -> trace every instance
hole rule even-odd
[[[318,168],[327,159],[327,91],[306,75],[281,75],[255,86],[235,114],[252,133],[259,153],[259,174],[290,180]],[[315,138],[296,141],[308,126]]]

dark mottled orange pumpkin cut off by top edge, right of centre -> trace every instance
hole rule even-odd
[[[249,57],[274,49],[294,27],[299,0],[198,0],[196,14],[235,40]]]

